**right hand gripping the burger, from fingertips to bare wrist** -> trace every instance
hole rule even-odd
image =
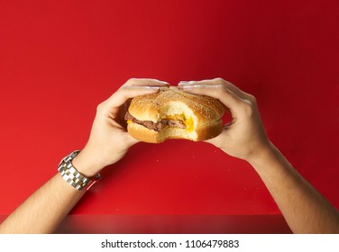
[[[179,87],[191,94],[214,97],[232,113],[232,121],[223,132],[209,142],[233,157],[247,161],[259,157],[270,148],[270,140],[262,126],[256,99],[222,78],[180,82]]]

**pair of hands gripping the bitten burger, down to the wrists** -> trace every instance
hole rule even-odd
[[[96,118],[87,145],[73,160],[84,175],[95,175],[105,166],[124,157],[128,148],[138,142],[125,129],[124,113],[130,99],[143,94],[159,92],[169,85],[156,79],[129,79],[96,109]],[[251,162],[269,148],[270,141],[262,126],[256,100],[222,78],[180,82],[179,88],[191,94],[202,94],[219,99],[232,113],[232,121],[223,132],[206,142],[225,153]]]

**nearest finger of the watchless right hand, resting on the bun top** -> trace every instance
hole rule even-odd
[[[237,111],[243,100],[225,85],[184,85],[183,90],[191,94],[207,95],[218,99],[232,113]]]

